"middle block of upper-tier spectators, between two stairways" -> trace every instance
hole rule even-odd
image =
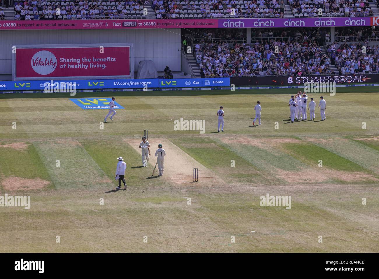
[[[176,2],[153,0],[157,18],[283,18],[283,0],[205,0]]]

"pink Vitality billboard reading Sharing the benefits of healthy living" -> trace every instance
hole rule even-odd
[[[17,48],[17,78],[128,76],[130,47]]]

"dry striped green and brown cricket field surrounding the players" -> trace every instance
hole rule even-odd
[[[326,121],[316,108],[315,122],[291,124],[296,91],[74,96],[116,97],[125,110],[104,129],[107,110],[82,110],[67,94],[0,94],[0,195],[31,197],[29,210],[0,207],[0,252],[378,252],[377,88],[337,88],[323,94]],[[252,127],[257,100],[263,125]],[[205,120],[205,133],[175,131],[180,118]],[[159,142],[177,150],[163,177],[139,168],[144,129],[152,155]],[[126,191],[114,191],[118,156]],[[261,207],[267,193],[291,196],[291,209]]]

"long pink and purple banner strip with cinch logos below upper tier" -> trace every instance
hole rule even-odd
[[[139,20],[1,20],[0,30],[262,28],[374,26],[378,17],[315,17],[283,19],[139,19]]]

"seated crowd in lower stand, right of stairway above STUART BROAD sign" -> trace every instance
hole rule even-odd
[[[330,60],[337,67],[339,74],[377,74],[379,46],[369,46],[367,42],[334,42],[327,47]]]

